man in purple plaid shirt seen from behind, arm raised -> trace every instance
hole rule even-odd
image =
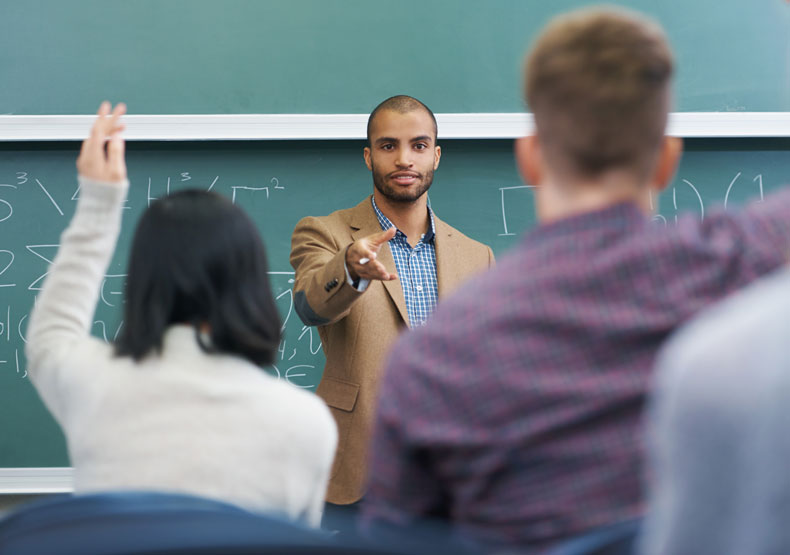
[[[573,12],[537,39],[526,65],[536,134],[516,158],[537,186],[539,225],[396,343],[369,530],[437,517],[529,551],[642,516],[656,352],[790,252],[787,190],[704,221],[651,221],[682,150],[664,134],[672,66],[661,29],[631,12]]]

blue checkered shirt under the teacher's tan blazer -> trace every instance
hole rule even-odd
[[[381,213],[376,201],[370,197],[376,218],[382,230],[387,230],[393,223]],[[439,296],[439,282],[436,279],[436,228],[433,223],[433,212],[428,207],[428,216],[431,227],[428,233],[420,237],[414,248],[406,240],[406,234],[398,230],[395,237],[390,239],[390,250],[395,259],[395,269],[398,272],[406,299],[406,310],[409,313],[409,325],[412,328],[422,326],[436,308],[436,299]]]

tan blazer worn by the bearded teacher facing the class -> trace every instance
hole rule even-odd
[[[476,272],[493,266],[494,253],[435,214],[434,225],[441,299]],[[366,449],[382,365],[409,321],[399,280],[372,281],[360,293],[346,279],[346,247],[380,231],[368,197],[354,208],[302,219],[291,238],[294,306],[305,324],[318,326],[326,366],[317,393],[329,405],[339,432],[327,500],[343,505],[358,501],[364,493]],[[395,273],[389,244],[381,248],[378,260]]]

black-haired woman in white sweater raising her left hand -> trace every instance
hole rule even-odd
[[[241,209],[203,191],[152,204],[122,332],[114,345],[89,335],[128,188],[124,111],[102,104],[83,143],[77,210],[28,328],[28,371],[65,432],[75,491],[188,493],[317,526],[337,432],[318,397],[260,368],[280,322]]]

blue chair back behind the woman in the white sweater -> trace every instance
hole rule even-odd
[[[157,492],[60,496],[0,520],[4,555],[384,553],[277,515],[221,501]]]

